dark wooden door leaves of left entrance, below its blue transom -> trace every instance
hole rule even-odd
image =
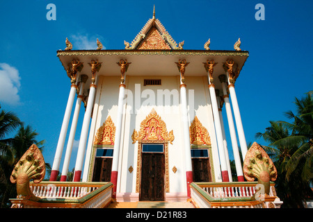
[[[93,182],[111,181],[112,158],[95,158]]]

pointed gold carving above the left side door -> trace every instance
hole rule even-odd
[[[115,126],[109,116],[106,121],[100,126],[93,140],[94,145],[114,145],[115,139]]]

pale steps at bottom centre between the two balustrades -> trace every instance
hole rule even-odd
[[[195,208],[190,202],[113,202],[107,208]]]

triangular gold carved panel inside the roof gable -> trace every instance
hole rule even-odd
[[[152,27],[143,42],[138,45],[138,49],[170,49],[170,46],[163,40],[157,28]]]

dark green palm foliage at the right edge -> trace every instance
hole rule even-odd
[[[289,111],[286,116],[293,123],[270,121],[265,133],[257,133],[268,146],[263,146],[278,169],[277,193],[284,201],[283,207],[305,207],[305,197],[312,196],[312,92],[303,99],[296,99],[297,114]],[[304,204],[303,204],[304,203]]]

